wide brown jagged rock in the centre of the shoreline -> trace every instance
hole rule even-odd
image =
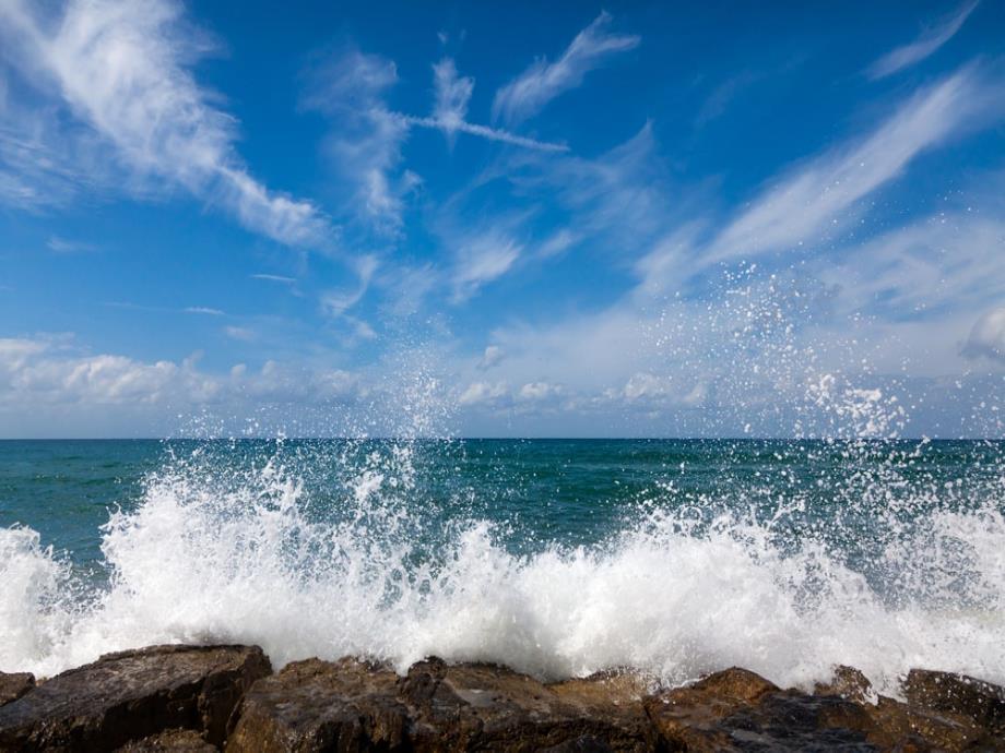
[[[654,730],[627,688],[610,678],[544,685],[437,659],[404,678],[354,659],[311,659],[252,685],[227,752],[653,750]]]

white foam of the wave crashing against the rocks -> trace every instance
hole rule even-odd
[[[168,468],[105,527],[111,581],[90,596],[37,534],[0,530],[0,669],[49,676],[126,647],[239,642],[277,666],[364,654],[404,669],[438,655],[677,683],[740,665],[806,685],[850,664],[888,693],[919,666],[1005,682],[994,507],[892,537],[878,563],[896,578],[891,600],[823,543],[783,551],[770,522],[729,515],[699,530],[650,513],[603,546],[528,557],[469,521],[422,564],[410,543],[421,505],[406,512],[401,478],[370,464],[332,521],[272,465],[239,481]]]

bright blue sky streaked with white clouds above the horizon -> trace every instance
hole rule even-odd
[[[1005,2],[0,0],[0,437],[1005,437]]]

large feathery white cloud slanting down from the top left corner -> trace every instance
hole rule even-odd
[[[314,204],[270,191],[247,172],[234,119],[191,72],[209,45],[180,4],[71,0],[60,17],[40,16],[37,4],[0,3],[4,57],[110,145],[140,193],[168,181],[281,243],[328,242],[330,227]]]

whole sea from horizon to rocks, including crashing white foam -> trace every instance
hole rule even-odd
[[[0,671],[182,642],[1005,683],[1005,442],[0,442]]]

